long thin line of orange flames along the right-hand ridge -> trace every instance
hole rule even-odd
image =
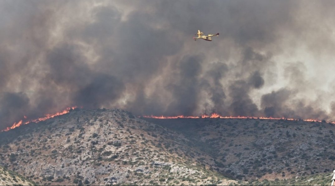
[[[180,115],[180,116],[143,116],[144,118],[155,118],[155,119],[177,119],[177,118],[222,118],[222,119],[263,119],[263,120],[297,120],[294,118],[273,118],[273,117],[253,117],[253,116],[221,116],[219,114],[213,113],[212,115],[208,116],[208,115],[202,115],[201,117],[199,116],[184,116],[184,115]],[[309,121],[309,122],[322,122],[321,120],[317,120],[317,119],[304,119],[303,121]],[[329,122],[332,124],[335,124],[335,122]]]

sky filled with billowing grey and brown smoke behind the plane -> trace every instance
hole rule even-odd
[[[0,1],[0,128],[70,106],[335,120],[335,1]],[[220,33],[194,41],[200,29]]]

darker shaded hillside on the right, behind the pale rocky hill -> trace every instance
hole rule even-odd
[[[196,141],[217,171],[240,179],[287,179],[335,168],[334,124],[260,119],[152,119]]]

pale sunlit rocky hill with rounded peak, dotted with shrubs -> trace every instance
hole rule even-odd
[[[1,165],[40,185],[230,184],[175,131],[122,110],[75,109],[0,133]],[[199,161],[200,160],[200,161]]]

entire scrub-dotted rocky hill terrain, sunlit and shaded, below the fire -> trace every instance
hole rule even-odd
[[[75,109],[1,132],[0,164],[38,185],[322,185],[335,165],[334,131],[320,122]]]

